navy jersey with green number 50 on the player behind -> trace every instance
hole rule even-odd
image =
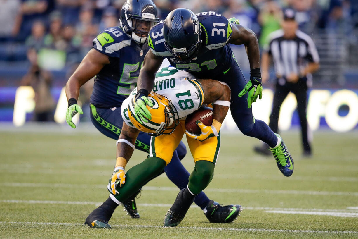
[[[120,107],[136,87],[149,48],[140,47],[120,27],[103,30],[93,40],[93,48],[107,55],[110,64],[96,75],[90,102],[97,107]]]

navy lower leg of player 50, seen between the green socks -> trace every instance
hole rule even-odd
[[[276,136],[275,136],[276,137]],[[164,171],[171,182],[173,182],[178,188],[183,189],[188,186],[189,183],[189,172],[184,168],[182,162],[180,162],[178,154],[174,151],[173,158],[170,163],[165,166]],[[210,199],[205,193],[200,192],[195,196],[194,202],[201,209],[204,209]]]

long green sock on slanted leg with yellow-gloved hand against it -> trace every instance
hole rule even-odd
[[[157,157],[148,157],[142,163],[135,165],[126,173],[126,183],[116,190],[119,195],[115,196],[118,201],[124,202],[137,192],[146,182],[158,175],[165,167],[165,161]]]

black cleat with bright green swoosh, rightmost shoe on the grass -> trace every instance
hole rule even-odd
[[[204,214],[212,223],[232,222],[237,216],[240,216],[240,212],[242,211],[240,205],[220,206],[218,202],[214,202],[213,200],[209,201],[206,209],[208,211]]]

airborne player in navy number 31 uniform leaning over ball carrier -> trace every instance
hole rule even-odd
[[[251,67],[248,82],[228,43],[245,45]],[[153,88],[155,72],[167,58],[171,65],[192,73],[197,79],[226,83],[231,88],[230,109],[237,127],[243,134],[270,146],[282,174],[289,177],[293,173],[293,160],[280,135],[252,116],[251,104],[262,97],[260,51],[255,33],[213,11],[194,14],[180,8],[171,11],[151,29],[148,45],[150,51],[144,58],[137,82],[137,117],[144,121],[151,118],[145,107],[147,95]]]

